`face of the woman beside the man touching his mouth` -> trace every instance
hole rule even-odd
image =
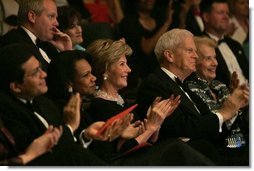
[[[78,19],[75,19],[72,26],[64,32],[70,36],[73,46],[83,42],[82,27]]]

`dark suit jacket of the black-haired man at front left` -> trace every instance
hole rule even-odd
[[[97,156],[75,143],[70,129],[63,123],[58,108],[46,97],[33,101],[44,119],[54,126],[63,126],[63,134],[52,152],[34,160],[34,165],[107,165]],[[23,102],[0,91],[0,117],[17,142],[18,152],[24,151],[46,128]],[[68,157],[66,157],[68,156]]]

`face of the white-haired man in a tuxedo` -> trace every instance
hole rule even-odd
[[[182,79],[196,71],[197,49],[193,37],[186,37],[185,40],[175,49],[173,53],[174,72]]]

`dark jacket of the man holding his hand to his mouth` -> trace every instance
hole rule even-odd
[[[37,46],[33,43],[31,38],[28,36],[28,34],[25,32],[24,29],[21,27],[18,27],[17,29],[11,30],[10,32],[6,33],[2,38],[0,42],[0,48],[9,44],[13,43],[27,43],[31,45],[35,52],[36,52],[36,58],[41,62],[42,68],[46,71],[48,67],[48,62],[42,57],[39,49]],[[53,59],[58,56],[57,49],[49,42],[43,42],[41,43],[41,49],[43,49],[48,57],[50,59]]]

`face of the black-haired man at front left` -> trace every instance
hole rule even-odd
[[[32,56],[22,65],[25,71],[23,82],[19,83],[20,96],[26,99],[33,99],[36,96],[45,94],[48,90],[45,78],[47,74],[41,69],[39,61]]]

